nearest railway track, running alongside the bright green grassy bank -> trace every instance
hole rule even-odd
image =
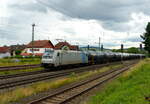
[[[100,75],[96,75],[87,80],[80,81],[79,83],[56,90],[54,93],[44,96],[40,99],[29,102],[28,104],[70,104],[74,98],[90,91],[91,89],[107,82],[108,80],[118,76],[124,71],[128,70],[133,64],[124,68],[109,70]]]

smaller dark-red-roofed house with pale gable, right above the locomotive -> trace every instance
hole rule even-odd
[[[59,42],[55,45],[56,50],[79,50],[79,47],[76,45],[71,45],[68,42]]]

